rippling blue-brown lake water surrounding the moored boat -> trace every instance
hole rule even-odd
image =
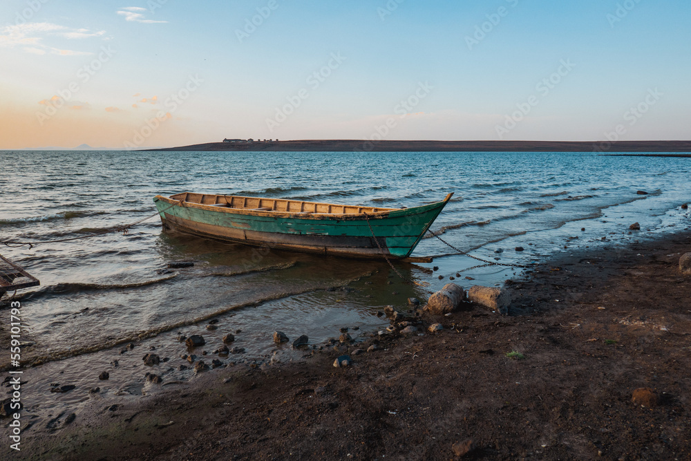
[[[609,245],[623,245],[690,224],[680,206],[691,201],[691,158],[3,151],[0,169],[0,240],[69,238],[131,223],[155,213],[151,199],[156,194],[182,191],[377,207],[413,207],[453,192],[433,229],[461,250],[491,261],[500,258],[501,263],[541,261],[603,245],[603,237]],[[638,195],[639,190],[649,194]],[[629,234],[634,222],[642,230]],[[515,252],[518,246],[526,251]],[[22,310],[23,337],[36,343],[23,348],[23,357],[46,361],[27,372],[33,373],[30,411],[39,420],[59,406],[77,405],[94,386],[106,395],[152,392],[144,382],[150,369],[141,360],[151,347],[170,359],[157,368],[164,382],[191,379],[189,370],[177,369],[186,363],[179,357],[186,348],[176,340],[178,333],[202,334],[207,362],[217,358],[211,352],[221,346],[220,338],[237,330],[234,346],[245,352],[223,358],[224,363],[286,361],[301,355],[274,346],[274,330],[291,338],[307,334],[319,345],[337,336],[342,326],[358,327],[353,336],[381,328],[378,308],[404,306],[408,297],[425,296],[401,283],[384,262],[263,254],[241,245],[164,234],[158,218],[127,235],[0,251],[41,280],[41,287],[25,290]],[[475,279],[472,283],[495,285],[516,273],[504,267],[468,270],[477,261],[442,256],[450,253],[437,239],[427,238],[413,256],[439,256],[435,263],[401,265],[400,270],[430,283],[431,290],[464,270],[457,282],[465,286],[471,283],[465,276]],[[196,265],[166,273],[167,263],[179,259]],[[429,270],[433,265],[438,272]],[[237,274],[248,267],[258,272]],[[438,280],[439,274],[444,280]],[[346,284],[347,290],[333,290]],[[218,312],[226,312],[217,317],[218,330],[207,330],[206,318]],[[205,319],[195,323],[200,317]],[[141,341],[135,351],[121,353],[123,346],[113,344],[123,339]],[[70,355],[75,357],[56,360]],[[115,359],[117,367],[111,364]],[[97,379],[103,370],[111,374],[108,382]],[[61,384],[77,384],[78,389],[50,394],[48,384],[56,382],[56,375]]]

